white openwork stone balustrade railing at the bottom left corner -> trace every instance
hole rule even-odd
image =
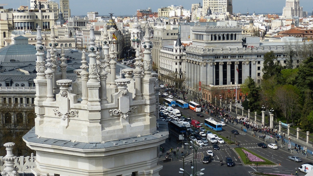
[[[36,156],[33,156],[33,154],[31,156],[20,156],[17,157],[14,160],[14,167],[18,168],[18,172],[19,173],[31,173],[31,168],[35,168],[36,167],[36,163],[35,163],[35,159]],[[0,156],[0,171],[3,171],[3,169],[5,168],[5,163],[3,161],[3,156]]]

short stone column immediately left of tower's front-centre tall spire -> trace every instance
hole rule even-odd
[[[82,65],[80,66],[81,72],[81,80],[82,80],[82,101],[81,104],[87,104],[88,103],[88,89],[87,89],[87,81],[89,79],[89,72],[87,72],[87,69],[89,68],[87,65],[87,61],[86,61],[86,56],[85,56],[85,51],[83,51],[82,55],[81,55],[81,63]]]

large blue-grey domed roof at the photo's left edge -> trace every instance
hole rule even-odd
[[[1,62],[36,62],[34,46],[28,44],[28,38],[18,36],[14,38],[14,44],[0,49]]]

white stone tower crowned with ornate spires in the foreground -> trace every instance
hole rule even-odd
[[[27,146],[36,150],[36,168],[32,172],[38,176],[158,176],[162,169],[158,148],[168,132],[157,131],[156,127],[156,75],[151,73],[149,26],[143,44],[143,69],[138,60],[134,78],[133,70],[128,69],[124,70],[125,79],[115,79],[114,47],[110,48],[105,38],[100,52],[95,46],[94,28],[90,29],[89,39],[89,64],[83,53],[81,70],[77,72],[81,83],[72,84],[64,75],[54,80],[53,54],[48,52],[44,61],[44,46],[41,36],[37,36],[37,117],[35,127],[23,136]],[[53,89],[54,81],[59,89]],[[72,90],[81,86],[81,103],[69,89],[71,85]]]

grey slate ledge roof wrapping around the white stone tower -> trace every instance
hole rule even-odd
[[[160,121],[158,121],[159,123]],[[160,128],[160,125],[163,126]],[[166,125],[166,127],[164,126]],[[105,143],[100,143],[100,141],[95,141],[95,143],[83,143],[83,142],[72,142],[69,140],[62,140],[62,139],[51,139],[51,138],[38,138],[35,134],[35,127],[33,127],[28,133],[23,136],[23,139],[28,141],[29,143],[40,143],[45,145],[52,145],[52,146],[60,146],[60,147],[69,147],[69,148],[79,148],[79,149],[97,149],[97,148],[110,148],[115,146],[122,146],[127,145],[130,143],[137,143],[142,141],[149,141],[158,138],[162,138],[168,135],[167,123],[159,123],[158,129],[165,129],[165,131],[159,130],[154,134],[149,134],[141,137],[132,137],[128,139],[117,139],[114,141],[108,141]]]

